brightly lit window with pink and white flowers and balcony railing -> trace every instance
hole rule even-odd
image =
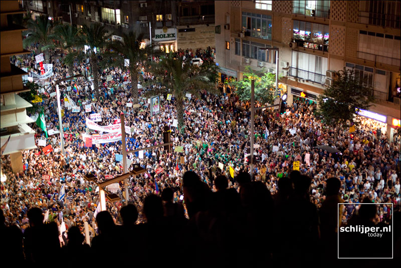
[[[293,39],[299,46],[328,52],[328,25],[294,20],[293,26]]]

